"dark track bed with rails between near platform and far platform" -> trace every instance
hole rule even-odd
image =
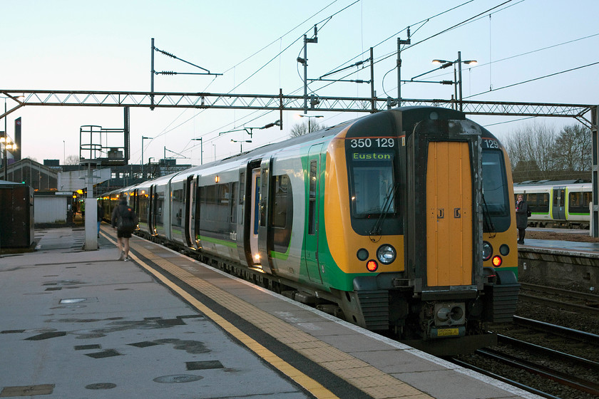
[[[598,296],[530,284],[523,288],[538,296],[518,306],[517,313],[528,317],[493,326],[498,346],[461,356],[456,363],[546,398],[598,398],[599,336],[589,332],[598,331],[592,306]],[[565,305],[570,302],[578,306]]]

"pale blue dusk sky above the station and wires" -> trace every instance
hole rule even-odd
[[[156,91],[277,95],[282,88],[284,94],[301,95],[303,71],[297,57],[303,56],[304,33],[311,38],[317,26],[318,42],[307,45],[308,78],[364,61],[373,47],[377,96],[396,97],[397,38],[405,40],[409,26],[411,45],[401,50],[402,79],[433,70],[434,58],[455,61],[460,51],[462,60],[478,61],[473,67],[463,65],[464,99],[599,104],[599,64],[588,66],[599,63],[596,0],[0,0],[0,9],[0,90],[150,91],[154,38],[160,50],[222,73],[155,76]],[[370,67],[365,65],[330,78],[368,80]],[[570,69],[575,70],[564,72]],[[155,71],[199,70],[155,53]],[[549,75],[554,76],[541,78]],[[453,80],[453,69],[420,79]],[[522,83],[526,81],[531,82]],[[359,83],[317,82],[309,90],[370,96],[370,85]],[[439,83],[401,85],[402,98],[449,100],[453,93],[453,86]],[[6,103],[9,109],[14,106],[10,99]],[[282,130],[254,130],[243,150],[289,138],[293,125],[303,121],[298,114],[285,111]],[[308,114],[323,115],[317,121],[329,126],[367,115]],[[8,116],[12,138],[19,117],[22,157],[38,162],[62,163],[78,155],[82,125],[123,127],[122,108],[26,106]],[[570,118],[469,118],[500,140],[524,125],[559,130],[578,123]],[[278,119],[278,111],[131,108],[130,163],[141,160],[142,136],[152,138],[143,140],[143,162],[166,153],[178,164],[199,165],[200,142],[193,138],[203,138],[207,163],[239,152],[239,143],[231,140],[250,140],[244,131],[219,133]]]

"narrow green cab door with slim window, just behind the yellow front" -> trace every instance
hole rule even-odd
[[[318,261],[318,215],[320,194],[320,152],[322,144],[312,145],[308,151],[307,212],[304,228],[304,261],[310,281],[322,283]]]

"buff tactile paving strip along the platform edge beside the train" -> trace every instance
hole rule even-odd
[[[257,328],[270,334],[277,341],[285,343],[290,348],[293,348],[320,366],[327,368],[330,372],[338,375],[339,378],[346,380],[373,398],[431,398],[431,396],[422,393],[411,385],[383,373],[368,363],[360,361],[343,351],[339,351],[334,346],[330,346],[318,338],[314,338],[308,333],[304,333],[304,331],[287,324],[285,321],[277,318],[277,316],[257,309],[252,304],[237,298],[237,296],[218,288],[208,281],[193,276],[188,271],[181,269],[180,266],[153,254],[149,249],[145,249],[135,243],[135,240],[131,240],[131,245],[135,247],[135,251],[142,254],[143,257],[150,259],[165,271],[168,271],[168,273],[185,281],[186,284],[201,291],[221,306],[225,306],[225,308],[245,318],[246,321],[254,324]],[[257,349],[256,352],[259,356],[262,356],[260,355],[260,349]],[[267,355],[265,354],[265,356]],[[276,361],[273,364],[276,365]]]

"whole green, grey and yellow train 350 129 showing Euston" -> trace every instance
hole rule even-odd
[[[519,284],[506,150],[457,110],[372,113],[106,193],[137,234],[439,356],[496,343]]]

